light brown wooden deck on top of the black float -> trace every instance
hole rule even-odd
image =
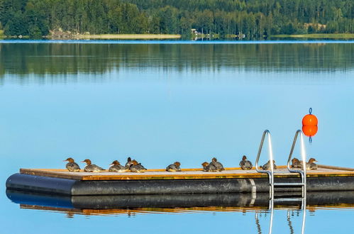
[[[354,169],[321,165],[317,170],[308,171],[308,177],[354,177]],[[299,174],[287,172],[286,166],[279,166],[275,177],[299,177]],[[287,172],[287,173],[286,173]],[[200,168],[182,169],[182,172],[166,172],[165,169],[149,169],[144,173],[133,172],[68,172],[66,169],[20,169],[21,174],[43,177],[57,177],[77,180],[136,180],[136,179],[233,179],[233,178],[267,178],[251,170],[240,167],[226,168],[223,172],[203,172]]]

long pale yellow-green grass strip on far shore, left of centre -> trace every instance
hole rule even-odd
[[[76,39],[179,39],[179,34],[78,34]]]

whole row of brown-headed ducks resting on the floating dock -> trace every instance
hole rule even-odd
[[[67,161],[66,168],[69,170],[69,172],[79,172],[80,167],[79,165],[77,165],[76,162],[74,162],[74,159],[72,159],[72,157],[69,157],[64,161]],[[84,172],[103,172],[106,170],[103,169],[102,167],[92,164],[91,160],[87,159],[82,162],[86,162],[86,166],[84,167]],[[317,169],[317,165],[315,164],[315,162],[317,161],[313,157],[311,157],[309,162],[306,162],[306,169]],[[221,172],[225,170],[221,162],[218,162],[216,157],[213,157],[211,159],[211,162],[209,163],[203,162],[201,165],[203,166],[204,172]],[[241,169],[249,170],[253,168],[252,162],[247,160],[247,157],[245,155],[243,155],[239,165]],[[131,157],[128,157],[126,165],[124,166],[121,165],[121,163],[118,162],[118,160],[114,160],[114,162],[112,162],[111,165],[109,166],[110,166],[109,172],[145,172],[146,171],[146,168],[143,165],[141,165],[141,163],[139,163],[136,160],[131,160]],[[174,162],[171,165],[168,165],[166,167],[166,171],[181,172],[180,166],[181,166],[180,162]],[[271,167],[270,160],[268,160],[268,162],[265,163],[265,165],[260,166],[260,168],[264,170],[270,170],[271,169],[270,167]],[[291,167],[302,169],[304,166],[302,164],[302,161],[294,157],[292,159]],[[275,165],[275,160],[273,160],[273,169],[277,169],[277,165]]]

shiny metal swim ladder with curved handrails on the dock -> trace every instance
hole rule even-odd
[[[262,152],[262,147],[263,143],[265,141],[265,136],[267,135],[268,137],[268,149],[269,149],[269,160],[270,160],[270,170],[263,170],[259,169],[258,166],[258,161],[260,160],[260,153]],[[302,156],[302,162],[303,162],[303,169],[291,169],[290,168],[290,160],[292,158],[292,153],[294,152],[294,147],[297,143],[297,137],[300,135],[301,139],[301,156]],[[290,150],[289,158],[287,160],[287,170],[291,173],[299,173],[301,177],[301,183],[275,183],[274,182],[274,166],[273,166],[273,151],[272,151],[272,140],[270,136],[270,131],[265,130],[262,135],[262,140],[260,140],[260,147],[258,149],[258,155],[255,160],[255,169],[257,172],[260,173],[267,173],[268,178],[269,178],[269,184],[270,184],[270,199],[274,200],[274,187],[275,186],[302,186],[302,199],[306,199],[306,152],[305,152],[305,145],[304,145],[304,137],[302,130],[297,130],[294,136],[294,140],[292,142],[292,148]],[[282,172],[277,172],[277,173],[282,173]]]

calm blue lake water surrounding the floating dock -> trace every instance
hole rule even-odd
[[[67,218],[19,208],[5,182],[21,167],[64,168],[68,156],[107,167],[133,155],[150,169],[176,160],[200,167],[215,156],[235,167],[242,155],[255,160],[265,129],[284,165],[309,107],[319,132],[306,138],[308,155],[354,167],[353,41],[74,43],[0,43],[0,233],[215,233],[212,225],[258,233],[255,211]],[[273,232],[290,232],[287,210],[274,216]],[[348,232],[353,217],[348,208],[308,210],[305,233]],[[292,216],[294,233],[301,221],[301,211]],[[262,211],[262,233],[269,223]]]

